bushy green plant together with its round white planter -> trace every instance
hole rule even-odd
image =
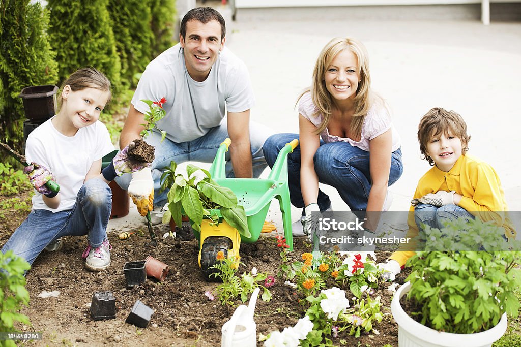
[[[519,245],[505,246],[503,233],[479,219],[426,226],[427,249],[445,250],[419,251],[407,263],[412,272],[391,303],[400,345],[481,347],[501,338],[506,314],[518,314],[513,290],[521,285]],[[491,251],[468,250],[476,240]]]

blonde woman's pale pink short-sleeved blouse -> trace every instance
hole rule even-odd
[[[318,108],[313,104],[311,93],[304,94],[299,101],[299,113],[302,114],[305,119],[312,122],[316,127],[319,127],[324,116],[317,112]],[[349,137],[330,135],[327,127],[322,130],[320,137],[325,143],[337,141],[348,142],[351,146],[356,146],[368,152],[369,140],[374,139],[389,129],[391,129],[392,132],[392,151],[394,152],[401,147],[400,135],[392,124],[391,115],[389,114],[388,109],[384,105],[378,106],[375,104],[369,109],[369,112],[367,112],[364,124],[362,125],[362,136],[359,141],[355,141]]]

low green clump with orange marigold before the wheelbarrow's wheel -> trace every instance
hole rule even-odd
[[[235,276],[238,260],[225,259],[224,254],[219,253],[222,253],[222,251],[217,253],[218,262],[212,266],[212,268],[217,269],[217,272],[210,274],[210,277],[214,276],[222,280],[222,284],[219,284],[215,289],[221,304],[233,306],[233,300],[238,297],[241,298],[242,302],[246,302],[248,295],[253,293],[255,288],[263,289],[263,301],[271,300],[271,292],[266,288],[271,287],[274,283],[274,281],[271,281],[271,276],[268,276],[267,273],[257,273],[254,269],[254,271],[243,273],[239,278]],[[244,264],[239,263],[239,265]]]

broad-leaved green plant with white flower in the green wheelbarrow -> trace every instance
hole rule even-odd
[[[221,217],[236,228],[243,237],[251,237],[246,221],[244,207],[237,204],[237,196],[229,188],[218,185],[207,170],[195,165],[187,165],[187,178],[176,173],[177,164],[172,161],[161,176],[161,190],[168,192],[168,211],[164,221],[170,217],[181,225],[184,213],[191,221],[194,230],[201,230],[203,219],[220,222]],[[203,177],[196,173],[202,172]]]

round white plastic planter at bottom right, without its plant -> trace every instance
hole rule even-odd
[[[440,332],[422,325],[405,313],[400,299],[411,288],[406,282],[396,291],[391,302],[391,313],[398,323],[398,345],[400,347],[490,347],[506,331],[506,313],[495,327],[474,334]]]

